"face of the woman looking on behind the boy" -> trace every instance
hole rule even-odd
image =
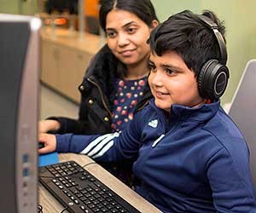
[[[125,10],[112,10],[106,20],[109,49],[126,66],[136,66],[147,60],[150,28],[137,15]]]

